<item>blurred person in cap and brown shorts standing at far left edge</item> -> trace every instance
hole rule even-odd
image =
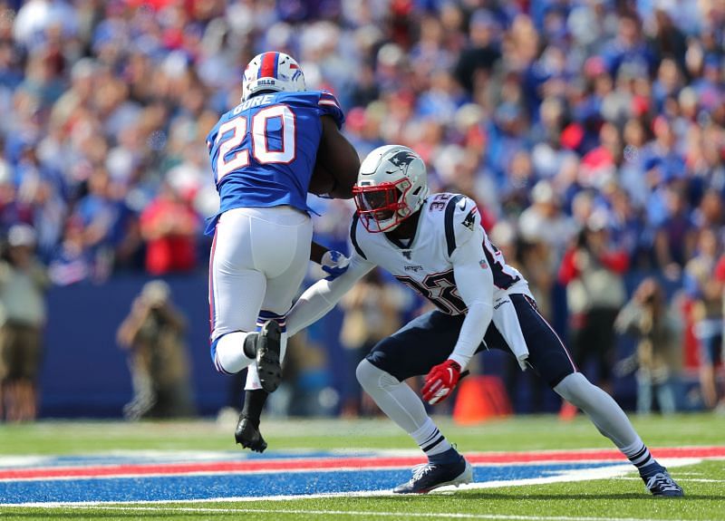
[[[34,256],[35,242],[33,227],[10,227],[0,260],[0,419],[4,412],[8,421],[37,416],[49,280]]]

